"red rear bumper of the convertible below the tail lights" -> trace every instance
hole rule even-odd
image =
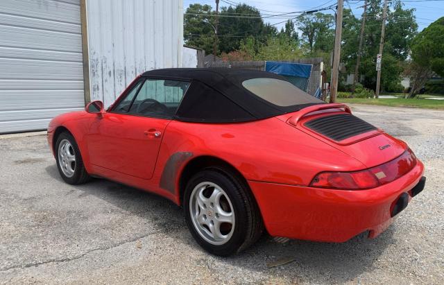
[[[398,180],[359,191],[248,183],[259,204],[265,227],[272,236],[343,242],[361,232],[370,231],[370,238],[384,232],[393,220],[392,213],[397,214],[395,208],[405,208],[409,200],[424,188],[423,172],[424,166],[418,161]],[[401,196],[404,196],[405,205],[398,202]]]

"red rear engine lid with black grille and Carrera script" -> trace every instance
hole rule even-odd
[[[352,115],[343,104],[307,107],[285,119],[289,125],[355,157],[367,167],[395,159],[407,149],[404,142]]]

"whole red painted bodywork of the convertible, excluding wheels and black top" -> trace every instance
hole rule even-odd
[[[178,205],[185,166],[197,157],[217,157],[247,180],[272,236],[332,242],[367,230],[370,237],[377,236],[391,223],[394,202],[418,183],[424,167],[418,160],[406,175],[374,189],[309,187],[322,171],[368,169],[407,150],[404,142],[382,130],[338,143],[305,128],[309,119],[350,112],[344,105],[324,107],[330,110],[313,106],[246,123],[71,112],[51,121],[48,141],[52,148],[56,130],[66,128],[88,173],[157,193]],[[386,145],[390,147],[381,148]]]

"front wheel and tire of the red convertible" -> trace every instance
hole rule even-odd
[[[83,164],[76,139],[69,132],[62,132],[56,141],[56,162],[58,172],[68,184],[82,184],[91,177]]]

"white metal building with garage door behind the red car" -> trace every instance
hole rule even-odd
[[[1,0],[0,133],[45,129],[182,66],[182,0]]]

